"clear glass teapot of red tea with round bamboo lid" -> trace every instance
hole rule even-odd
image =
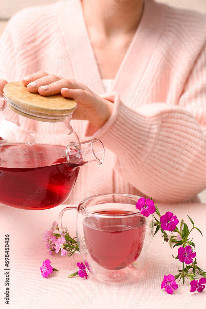
[[[70,125],[77,104],[61,94],[44,97],[12,82],[0,100],[0,204],[28,210],[62,204],[79,168],[103,163],[102,142],[79,142]]]

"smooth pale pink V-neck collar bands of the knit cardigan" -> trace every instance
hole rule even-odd
[[[122,101],[131,102],[140,89],[146,68],[152,58],[164,28],[164,6],[145,0],[141,21],[116,74],[112,91],[118,92]],[[104,93],[94,50],[86,28],[81,0],[64,1],[60,11],[61,33],[70,57],[74,78],[97,94]],[[129,97],[130,95],[130,97]]]

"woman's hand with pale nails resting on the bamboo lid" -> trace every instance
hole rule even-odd
[[[94,125],[102,126],[113,111],[113,103],[102,99],[74,79],[39,71],[24,77],[22,83],[30,92],[39,92],[45,96],[61,93],[65,98],[74,99],[77,108],[73,112],[72,119],[88,120]]]

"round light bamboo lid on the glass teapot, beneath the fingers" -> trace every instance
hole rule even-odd
[[[60,122],[74,112],[77,103],[74,99],[63,97],[60,93],[42,96],[32,93],[22,82],[11,82],[4,86],[8,106],[17,114],[45,122]]]

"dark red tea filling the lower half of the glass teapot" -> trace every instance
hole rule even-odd
[[[81,166],[68,163],[65,154],[63,146],[0,147],[0,204],[41,210],[65,202]]]

